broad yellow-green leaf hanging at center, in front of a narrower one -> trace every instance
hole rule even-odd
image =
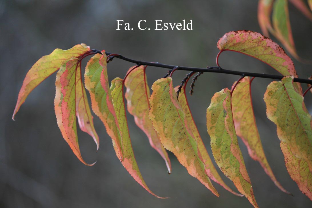
[[[196,139],[188,132],[183,109],[178,103],[171,77],[154,82],[153,93],[149,99],[149,118],[160,136],[164,148],[173,152],[188,173],[196,177],[213,194],[219,196],[212,186],[202,162]]]

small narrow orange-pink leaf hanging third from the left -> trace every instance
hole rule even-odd
[[[90,111],[85,87],[81,80],[81,64],[79,64],[76,72],[76,116],[80,129],[93,138],[96,143],[96,150],[98,150],[100,141],[94,128],[93,116]]]

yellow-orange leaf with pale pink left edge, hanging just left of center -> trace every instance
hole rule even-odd
[[[134,66],[135,67],[135,66]],[[125,98],[127,99],[127,108],[137,126],[144,131],[149,138],[150,145],[163,157],[166,162],[168,173],[171,173],[171,163],[166,149],[160,142],[158,133],[153,127],[152,121],[149,119],[149,97],[150,91],[146,80],[144,66],[139,66],[128,71],[129,75],[124,81],[127,88]]]

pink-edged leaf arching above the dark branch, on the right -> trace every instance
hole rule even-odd
[[[239,30],[227,32],[217,43],[220,51],[236,51],[270,65],[282,75],[298,77],[294,63],[282,47],[258,32]],[[300,83],[296,89],[302,93]]]

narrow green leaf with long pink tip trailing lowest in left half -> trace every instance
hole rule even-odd
[[[134,152],[132,149],[131,145],[131,140],[130,140],[130,135],[129,135],[129,130],[128,130],[128,122],[127,122],[127,117],[126,117],[126,108],[124,105],[124,95],[123,95],[123,80],[120,79],[119,77],[115,78],[112,80],[112,84],[110,86],[110,91],[112,94],[112,99],[114,103],[114,109],[116,112],[116,118],[118,120],[118,125],[119,125],[119,132],[121,135],[121,147],[124,152],[124,157],[121,163],[123,166],[126,168],[126,170],[130,173],[130,175],[137,181],[141,186],[143,186],[150,194],[158,197],[158,198],[163,198],[159,197],[156,194],[154,194],[149,187],[146,185],[138,164],[135,160],[134,157]]]

